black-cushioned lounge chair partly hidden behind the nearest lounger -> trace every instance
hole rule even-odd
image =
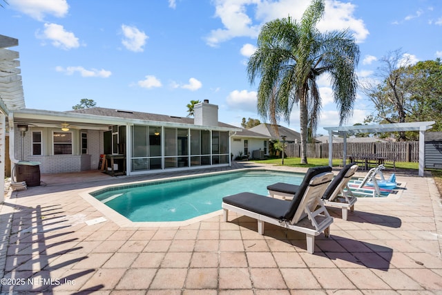
[[[329,184],[329,187],[322,196],[325,206],[337,207],[342,210],[343,220],[347,220],[348,210],[354,211],[354,203],[358,200],[353,196],[352,191],[348,187],[349,181],[354,173],[358,170],[356,163],[350,163],[340,169],[338,175]],[[282,198],[282,200],[291,200],[298,191],[299,185],[277,182],[267,186],[269,194],[273,198]]]

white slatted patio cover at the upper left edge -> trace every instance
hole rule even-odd
[[[19,53],[6,48],[19,45],[19,40],[0,35],[0,111],[9,111],[25,107]]]

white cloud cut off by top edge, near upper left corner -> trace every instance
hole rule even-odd
[[[64,17],[69,9],[66,0],[8,0],[8,3],[38,21],[43,21],[45,15]]]

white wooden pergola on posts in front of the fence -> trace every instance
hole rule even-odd
[[[423,176],[425,166],[425,131],[432,129],[436,122],[410,122],[410,123],[392,123],[377,125],[358,125],[358,126],[337,126],[324,127],[329,131],[329,166],[332,166],[333,157],[333,135],[343,137],[343,162],[347,159],[347,135],[354,133],[375,133],[375,132],[398,132],[398,131],[419,131],[419,176]]]

